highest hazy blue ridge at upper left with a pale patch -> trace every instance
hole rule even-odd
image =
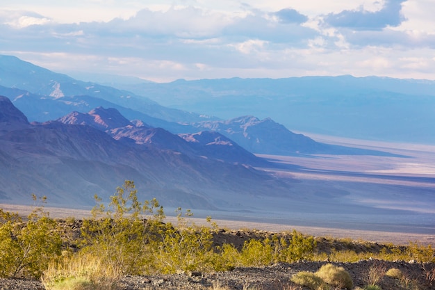
[[[27,90],[35,95],[54,99],[74,96],[97,97],[104,99],[106,102],[112,102],[118,106],[131,108],[146,113],[151,117],[171,122],[195,122],[208,119],[199,114],[166,108],[147,97],[134,95],[126,90],[72,79],[65,74],[51,72],[43,67],[21,61],[15,56],[0,56],[0,85]],[[66,100],[66,102],[70,101]],[[47,107],[46,111],[50,111],[50,109],[51,107]],[[60,115],[56,118],[59,117]],[[45,120],[50,119],[38,121]]]

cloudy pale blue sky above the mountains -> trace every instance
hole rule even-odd
[[[434,0],[1,0],[0,54],[153,81],[435,79]]]

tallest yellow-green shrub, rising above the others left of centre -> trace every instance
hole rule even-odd
[[[110,197],[108,209],[97,196],[92,218],[83,220],[81,252],[100,257],[107,266],[124,274],[149,271],[154,258],[163,207],[157,200],[139,202],[133,182],[126,180]]]

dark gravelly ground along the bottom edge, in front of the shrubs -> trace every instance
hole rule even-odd
[[[299,271],[317,271],[327,262],[302,261],[293,264],[276,264],[262,268],[236,268],[233,271],[222,273],[181,273],[176,275],[145,275],[126,276],[119,282],[121,290],[146,290],[146,289],[167,289],[167,290],[199,290],[199,289],[226,289],[229,290],[263,290],[280,289],[293,290],[302,289],[290,281],[290,278]],[[435,264],[417,264],[404,261],[378,261],[366,260],[356,263],[334,263],[343,266],[354,281],[356,289],[363,288],[366,282],[368,268],[381,266],[384,269],[398,268],[406,275],[405,279],[397,280],[384,276],[378,283],[383,290],[430,290],[435,289],[435,281],[430,284],[425,271],[435,268]],[[1,290],[43,290],[42,284],[35,280],[0,280]],[[303,288],[306,289],[306,288]]]

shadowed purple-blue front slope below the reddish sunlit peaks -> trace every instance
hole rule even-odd
[[[22,116],[6,97],[0,99],[1,112]],[[229,195],[287,191],[282,181],[249,166],[153,146],[132,147],[86,125],[28,124],[14,114],[3,121],[0,161],[8,169],[0,177],[0,199],[9,202],[25,203],[30,193],[37,193],[48,195],[54,204],[92,205],[95,193],[107,198],[124,179],[137,182],[142,198],[157,196],[167,206],[202,209],[231,207]]]

